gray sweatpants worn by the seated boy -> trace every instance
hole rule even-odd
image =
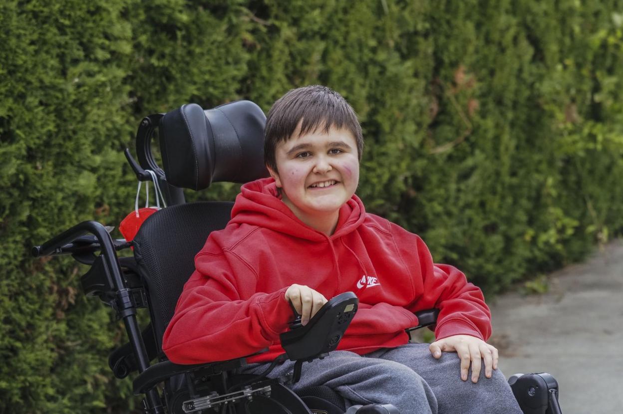
[[[259,374],[269,364],[252,364],[245,374]],[[277,365],[269,377],[293,370],[294,363]],[[394,404],[401,414],[504,413],[521,414],[510,386],[499,370],[485,377],[484,363],[480,379],[472,383],[460,379],[460,360],[456,352],[442,352],[439,360],[429,351],[429,344],[406,344],[379,349],[363,357],[338,350],[325,359],[305,362],[301,379],[294,391],[327,385],[347,401],[346,406],[371,403]]]

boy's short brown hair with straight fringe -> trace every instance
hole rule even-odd
[[[273,171],[277,171],[277,144],[292,138],[299,122],[300,134],[315,132],[320,128],[325,133],[331,127],[348,129],[357,143],[357,155],[361,160],[363,134],[357,114],[335,90],[311,85],[288,91],[270,108],[264,128],[264,162]]]

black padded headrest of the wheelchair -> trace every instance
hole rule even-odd
[[[196,103],[160,121],[160,152],[166,181],[201,190],[213,181],[249,182],[269,175],[264,166],[266,116],[251,101],[204,111]]]

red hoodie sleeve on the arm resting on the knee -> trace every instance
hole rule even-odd
[[[406,308],[439,309],[436,339],[464,334],[486,341],[491,336],[491,313],[482,291],[454,266],[433,263],[419,236],[397,225],[392,225],[392,235],[414,284],[414,300]]]

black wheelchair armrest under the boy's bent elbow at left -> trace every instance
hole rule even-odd
[[[230,359],[219,362],[208,362],[207,364],[194,364],[183,365],[173,364],[173,362],[166,360],[158,362],[158,364],[151,365],[145,371],[141,372],[132,382],[132,387],[135,395],[144,394],[155,387],[159,382],[163,382],[173,375],[185,374],[186,372],[200,371],[198,374],[203,376],[209,376],[219,374],[222,371],[229,371],[232,369],[244,367],[247,365],[247,357],[252,355],[261,354],[266,352],[268,348],[262,349],[254,354],[246,355],[242,358]]]

